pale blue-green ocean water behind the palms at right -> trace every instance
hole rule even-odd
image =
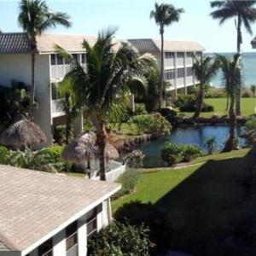
[[[218,53],[219,55],[225,55],[228,58],[233,58],[233,53]],[[212,54],[208,54],[212,55]],[[245,52],[242,54],[242,74],[243,82],[246,86],[256,84],[256,51]],[[212,79],[211,84],[216,87],[222,86],[222,73],[218,72],[216,77]]]

